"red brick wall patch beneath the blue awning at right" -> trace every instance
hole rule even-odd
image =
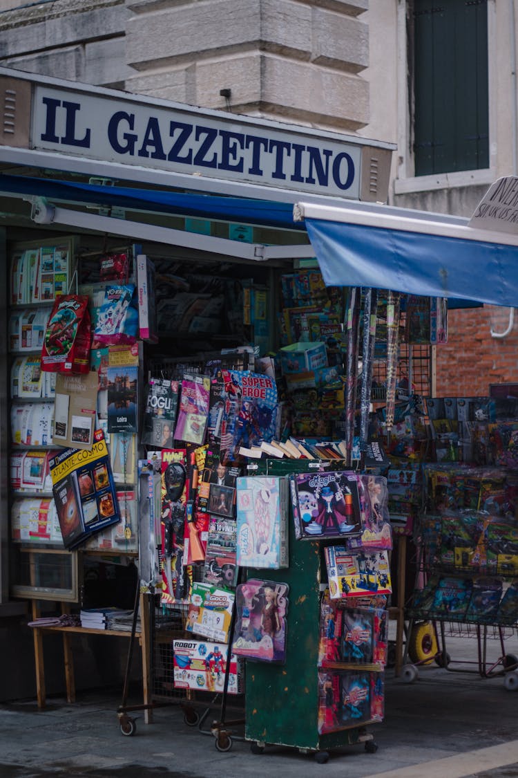
[[[436,348],[437,397],[488,394],[489,384],[518,382],[518,317],[506,338],[509,308],[484,306],[448,312],[448,342]]]

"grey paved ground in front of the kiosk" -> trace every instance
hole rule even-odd
[[[231,749],[221,753],[210,734],[219,708],[210,710],[200,731],[186,726],[178,704],[152,710],[152,724],[144,724],[142,712],[132,713],[137,731],[124,737],[116,715],[121,692],[105,689],[82,693],[74,705],[50,699],[43,711],[34,700],[0,706],[0,776],[518,778],[518,692],[506,689],[502,676],[481,678],[472,672],[475,664],[460,663],[476,660],[475,640],[455,638],[447,650],[456,671],[432,664],[420,668],[412,684],[386,671],[385,720],[369,727],[375,753],[353,745],[332,752],[325,765],[280,746],[256,755],[241,739],[240,725],[233,727]],[[499,653],[498,643],[488,641],[488,661]],[[514,634],[506,653],[518,654]],[[226,720],[240,713],[229,710]]]

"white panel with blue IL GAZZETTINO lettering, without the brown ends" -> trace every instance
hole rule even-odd
[[[34,149],[360,198],[362,144],[245,117],[35,86]]]

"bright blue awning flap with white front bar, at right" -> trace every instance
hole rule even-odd
[[[308,203],[294,212],[304,219],[326,284],[518,307],[516,236],[474,230],[468,220],[435,223],[433,215],[412,222],[407,209],[401,219],[383,207],[378,218]]]

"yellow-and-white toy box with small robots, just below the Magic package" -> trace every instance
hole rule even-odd
[[[343,545],[330,545],[324,555],[332,599],[391,594],[388,552],[351,553]]]

